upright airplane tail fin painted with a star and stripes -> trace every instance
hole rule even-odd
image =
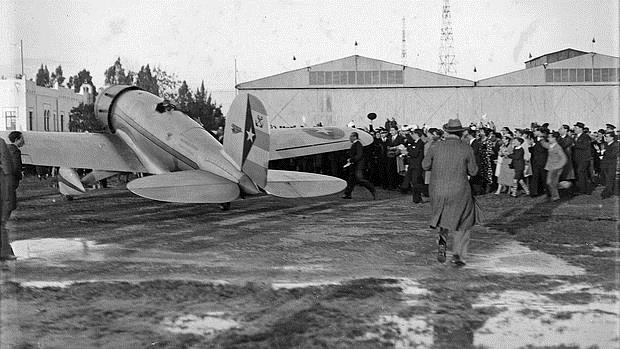
[[[224,151],[261,189],[267,185],[269,142],[269,118],[263,103],[251,94],[239,94],[226,115]]]

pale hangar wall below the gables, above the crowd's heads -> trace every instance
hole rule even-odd
[[[549,122],[552,128],[582,121],[591,128],[618,123],[619,87],[502,86],[460,88],[363,88],[244,90],[258,96],[275,126],[369,125],[394,117],[399,124],[441,126],[458,116],[478,122],[483,114],[498,126]]]

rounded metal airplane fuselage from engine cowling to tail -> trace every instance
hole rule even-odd
[[[200,124],[174,109],[155,110],[159,97],[128,88],[110,88],[101,97],[96,105],[99,118],[127,143],[148,172],[205,170],[235,183],[244,177]]]

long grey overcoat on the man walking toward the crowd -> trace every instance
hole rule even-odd
[[[431,227],[464,231],[479,222],[467,178],[478,173],[478,165],[469,145],[448,135],[428,150],[422,168],[431,171]]]

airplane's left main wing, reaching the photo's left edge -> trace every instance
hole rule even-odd
[[[9,143],[10,131],[0,131]],[[148,172],[118,136],[103,133],[22,131],[22,162],[30,165]]]

